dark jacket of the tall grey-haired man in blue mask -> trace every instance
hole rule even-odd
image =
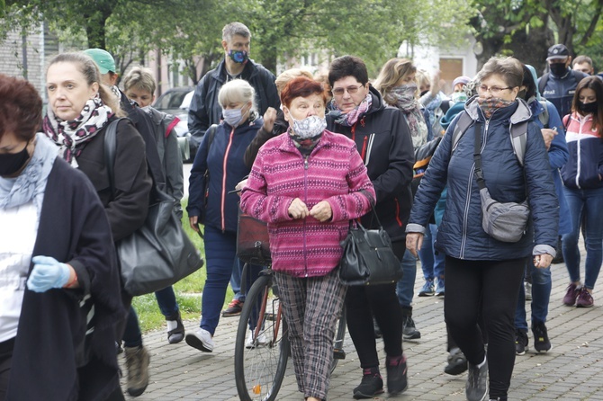
[[[218,102],[218,93],[227,82],[226,61],[222,60],[218,67],[202,77],[194,88],[191,107],[188,111],[188,130],[191,132],[193,145],[198,147],[205,131],[211,124],[220,124],[222,109]],[[275,75],[265,67],[247,61],[241,78],[256,90],[257,111],[263,116],[268,107],[279,109],[281,102],[276,92]]]

